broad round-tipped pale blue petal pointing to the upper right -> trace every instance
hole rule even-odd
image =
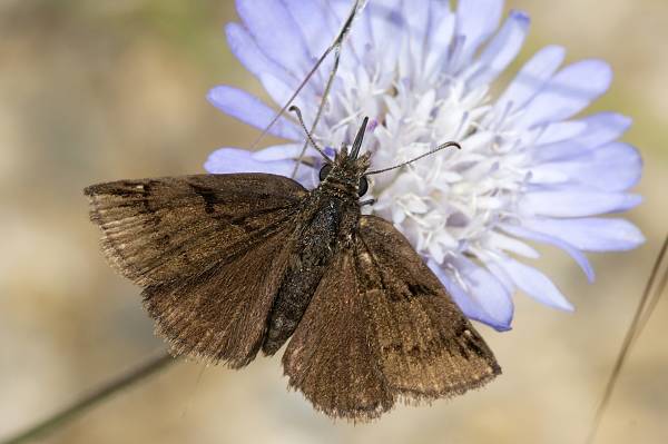
[[[559,71],[524,108],[520,128],[568,119],[608,90],[612,70],[602,60],[582,60]]]

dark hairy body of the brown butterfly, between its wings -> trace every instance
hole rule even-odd
[[[292,241],[295,247],[267,320],[263,351],[272,355],[292,336],[341,248],[352,245],[360,219],[358,184],[369,156],[342,150],[328,175],[304,201]]]

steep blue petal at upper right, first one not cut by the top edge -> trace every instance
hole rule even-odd
[[[480,69],[469,80],[469,87],[474,89],[495,80],[501,72],[514,60],[524,43],[529,30],[529,16],[521,11],[512,11],[499,33],[489,42],[475,65]]]

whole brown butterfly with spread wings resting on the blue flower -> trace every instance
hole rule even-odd
[[[358,155],[366,122],[312,191],[268,174],[86,188],[104,253],[144,287],[174,354],[239,368],[289,338],[289,386],[316,410],[354,421],[397,401],[459,395],[501,373],[404,236],[361,215],[367,176],[387,170],[367,171],[370,155]],[[456,144],[438,149],[448,146]]]

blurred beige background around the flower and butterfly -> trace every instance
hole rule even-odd
[[[285,389],[279,358],[242,372],[180,363],[50,436],[48,443],[578,443],[592,418],[640,289],[668,228],[668,2],[509,0],[527,10],[525,59],[547,43],[615,68],[595,109],[635,118],[646,170],[630,214],[648,238],[591,256],[597,282],[559,253],[547,270],[577,305],[518,295],[514,329],[481,327],[504,375],[431,407],[362,426],[332,423]],[[202,171],[219,146],[256,132],[205,100],[257,90],[232,58],[229,0],[0,0],[0,437],[141,362],[154,338],[139,289],[98,250],[81,189],[119,178]],[[668,442],[668,303],[620,378],[599,443]]]

